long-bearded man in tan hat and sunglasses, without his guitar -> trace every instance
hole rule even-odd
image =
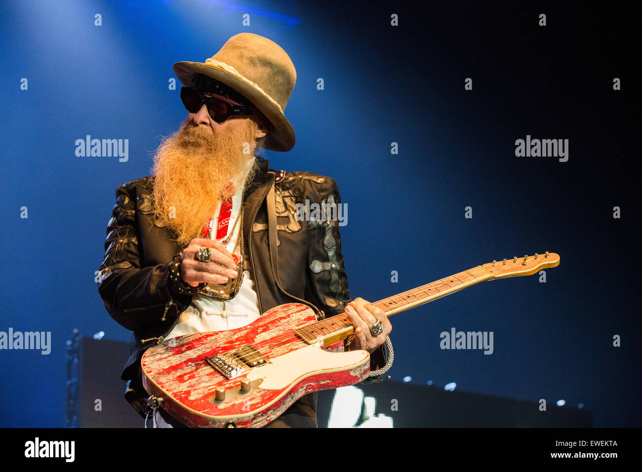
[[[294,146],[283,114],[296,80],[290,57],[241,33],[205,63],[178,62],[174,71],[189,115],[155,152],[153,176],[117,188],[100,267],[107,311],[134,331],[126,398],[143,410],[146,349],[247,326],[291,302],[317,319],[345,313],[356,328],[345,350],[364,349],[370,371],[382,367],[392,326],[381,308],[350,301],[337,221],[295,216],[306,200],[340,204],[336,183],[270,170],[257,155]],[[316,392],[306,394],[267,426],[315,427],[315,408]],[[153,416],[157,426],[182,426],[163,408]]]

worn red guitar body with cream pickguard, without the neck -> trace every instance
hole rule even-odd
[[[305,394],[368,376],[367,351],[331,352],[343,342],[325,349],[295,333],[316,320],[308,306],[288,303],[243,328],[169,339],[143,354],[143,385],[186,426],[265,426]]]

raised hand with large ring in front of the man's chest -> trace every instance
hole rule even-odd
[[[196,253],[202,247],[211,249],[209,256],[211,262],[198,261]],[[224,284],[227,283],[229,277],[234,278],[236,275],[236,265],[232,254],[221,241],[195,238],[183,251],[183,258],[180,261],[180,278],[189,286],[195,287],[203,282]]]

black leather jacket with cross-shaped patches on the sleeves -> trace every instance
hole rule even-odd
[[[248,186],[244,202],[243,238],[248,270],[255,283],[259,312],[279,304],[304,302],[317,317],[343,313],[350,301],[338,221],[295,218],[295,204],[341,202],[330,177],[309,172],[268,171],[269,161],[256,156],[259,170]],[[275,173],[275,198],[280,286],[275,283],[268,251],[266,195]],[[132,180],[116,189],[116,206],[107,226],[105,259],[98,274],[98,292],[111,317],[134,331],[130,357],[121,378],[135,380],[144,351],[175,326],[192,295],[178,293],[168,278],[171,259],[184,247],[175,233],[155,224],[152,208],[153,177]],[[372,356],[372,369],[383,365],[383,349]],[[316,396],[299,399],[316,410]],[[297,403],[299,403],[297,402]],[[295,403],[295,405],[297,405]],[[293,405],[291,408],[293,408]],[[300,406],[300,405],[299,405]],[[290,411],[290,410],[288,410]]]

